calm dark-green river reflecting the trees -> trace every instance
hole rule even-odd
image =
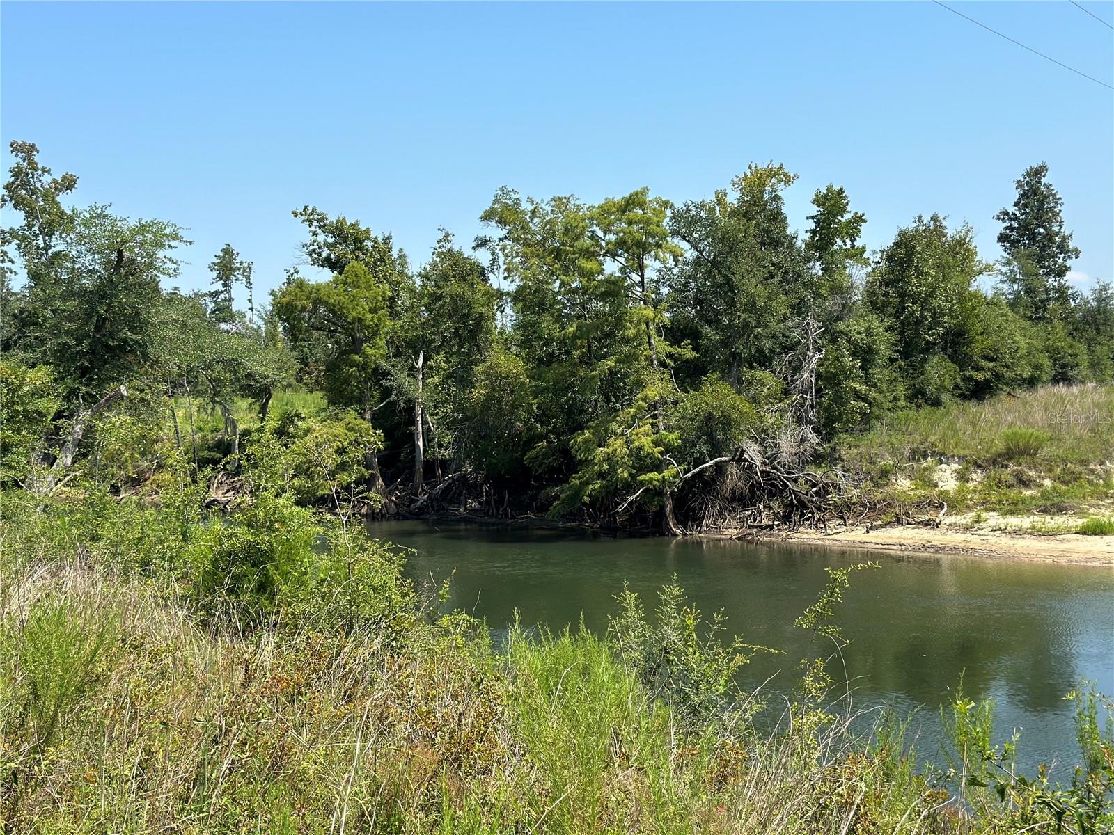
[[[960,676],[970,698],[995,700],[996,741],[1020,731],[1018,762],[1074,762],[1073,707],[1064,694],[1092,679],[1114,694],[1114,570],[974,557],[897,554],[730,540],[612,538],[566,530],[383,522],[382,539],[414,549],[414,578],[452,574],[452,608],[498,633],[524,625],[559,629],[583,618],[604,630],[624,581],[649,608],[676,574],[705,615],[722,609],[732,633],[786,650],[759,656],[743,684],[775,676],[788,688],[809,636],[793,620],[823,587],[827,567],[864,560],[838,621],[856,707],[916,711],[920,758],[940,763],[939,707]],[[1066,768],[1058,768],[1062,779]]]

